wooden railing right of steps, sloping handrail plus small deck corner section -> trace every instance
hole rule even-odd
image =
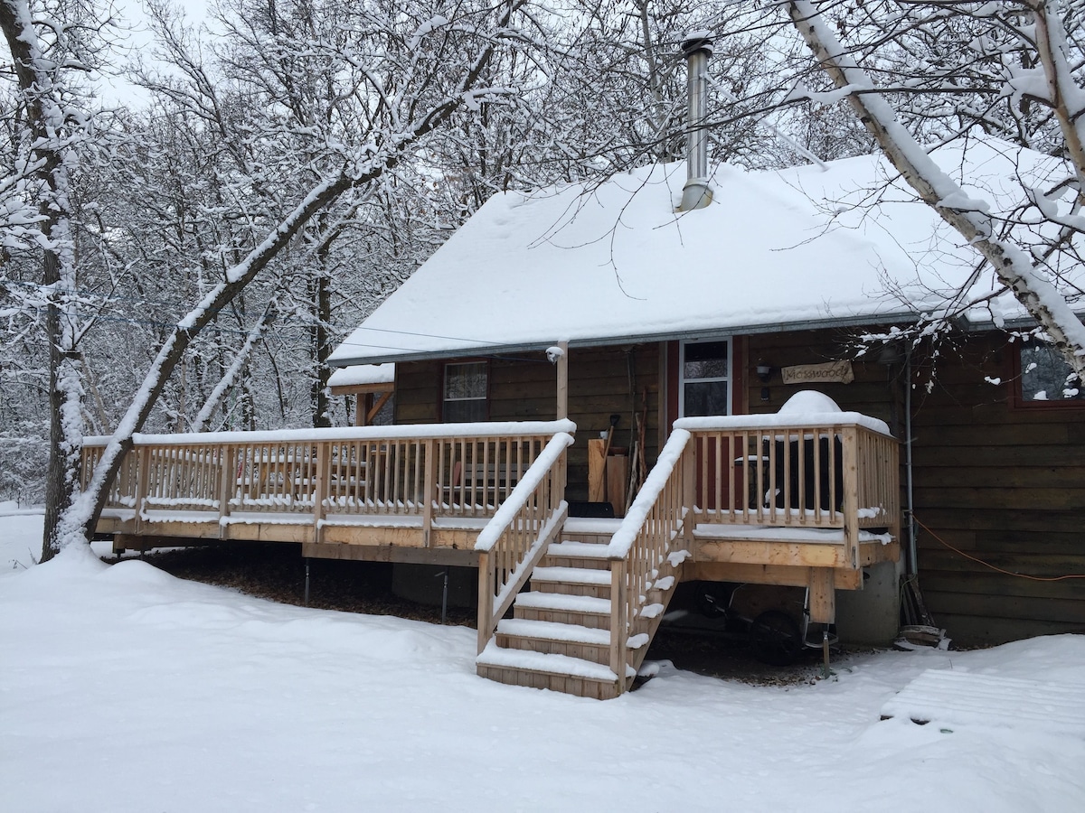
[[[611,669],[620,686],[637,666],[629,640],[659,623],[662,607],[652,606],[649,591],[660,586],[668,557],[677,566],[690,555],[699,524],[841,530],[853,569],[860,529],[898,533],[897,441],[884,424],[857,413],[808,417],[675,423],[610,543]]]

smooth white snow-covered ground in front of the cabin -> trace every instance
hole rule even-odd
[[[0,810],[1082,811],[1085,732],[879,721],[927,669],[1070,683],[1085,636],[884,653],[599,702],[474,674],[474,632],[65,554],[0,505]],[[69,552],[72,553],[72,552]],[[75,552],[79,553],[79,552]]]

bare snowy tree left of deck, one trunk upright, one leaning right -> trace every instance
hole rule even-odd
[[[53,107],[58,86],[43,81],[50,77],[46,76],[47,61],[40,44],[48,42],[55,28],[43,17],[31,22],[27,0],[3,0],[0,9],[4,10],[0,22],[13,56],[20,69],[26,70],[21,87],[28,100],[40,104],[41,113],[35,114],[34,120],[49,137],[30,140],[34,146],[28,156],[36,162],[37,176],[28,177],[44,179],[50,194],[58,198],[65,189],[63,176],[58,175],[64,168],[63,153],[58,150],[67,142],[58,144],[53,138],[60,131],[62,116]],[[63,398],[54,413],[62,436],[54,446],[67,475],[64,492],[48,498],[46,558],[67,544],[87,539],[132,435],[152,414],[189,348],[219,314],[227,312],[254,282],[272,273],[307,228],[312,225],[316,233],[336,228],[339,215],[334,212],[339,204],[350,210],[355,202],[373,196],[404,167],[425,155],[427,139],[461,117],[477,115],[487,105],[515,94],[515,88],[488,82],[487,72],[501,54],[524,49],[533,38],[541,38],[532,11],[526,0],[465,2],[452,9],[429,0],[350,7],[339,14],[339,39],[308,43],[319,47],[322,56],[334,63],[336,78],[342,82],[337,86],[334,129],[306,129],[295,121],[288,122],[279,115],[282,100],[276,100],[264,108],[266,116],[259,119],[259,129],[248,131],[243,141],[231,139],[231,131],[224,130],[225,138],[218,140],[217,149],[232,154],[229,171],[218,179],[222,196],[218,214],[240,218],[244,228],[220,230],[229,242],[205,246],[208,255],[226,261],[200,269],[196,301],[170,325],[163,326],[157,351],[142,371],[139,386],[81,491],[77,477],[81,447],[78,396],[84,371],[71,352],[79,336],[73,333],[66,337],[64,331],[71,325],[61,321],[55,344],[58,391]],[[216,64],[204,63],[183,44],[168,44],[175,64],[181,68],[179,77],[155,85],[161,96],[176,108],[208,127],[222,127],[231,116],[239,115],[238,105],[260,101],[255,94],[246,98],[244,87],[231,88]],[[42,152],[42,144],[53,152]],[[297,171],[299,166],[304,171]],[[49,185],[51,179],[59,180]],[[259,185],[264,190],[254,196],[253,190]],[[214,212],[203,214],[208,215]],[[322,225],[320,218],[324,215],[329,220]],[[36,228],[50,245],[63,249],[71,245],[71,241],[65,244],[58,240],[64,222],[62,209],[60,217],[42,219],[42,225]],[[46,233],[46,228],[52,231]],[[312,250],[319,245],[319,241],[312,241],[308,247]],[[74,255],[59,257],[56,264],[59,273],[68,274],[63,282],[65,289],[76,291]],[[63,314],[63,308],[62,301],[58,313]]]

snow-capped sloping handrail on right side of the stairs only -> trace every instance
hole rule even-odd
[[[692,452],[686,429],[674,429],[655,465],[608,545],[611,560],[611,670],[626,686],[629,636],[640,622],[649,585],[675,553],[672,542],[689,535],[692,516]],[[684,557],[685,558],[685,557]],[[674,564],[674,563],[672,563]]]

